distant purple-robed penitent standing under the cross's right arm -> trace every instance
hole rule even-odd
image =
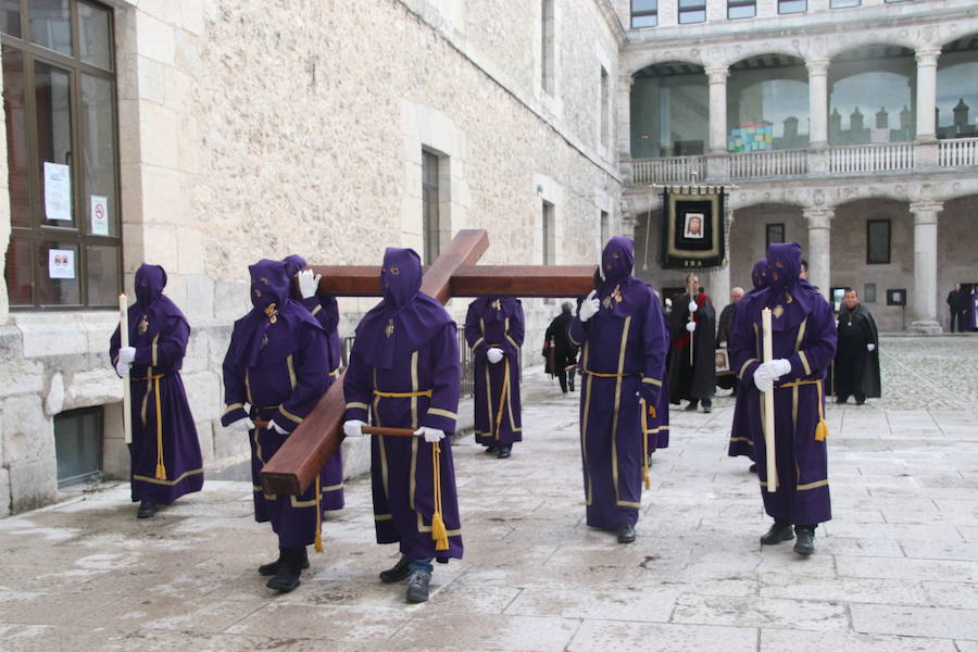
[[[523,441],[519,401],[519,347],[523,346],[523,305],[512,297],[481,297],[468,305],[465,340],[475,363],[475,436],[482,446]],[[502,349],[497,363],[486,356]]]

